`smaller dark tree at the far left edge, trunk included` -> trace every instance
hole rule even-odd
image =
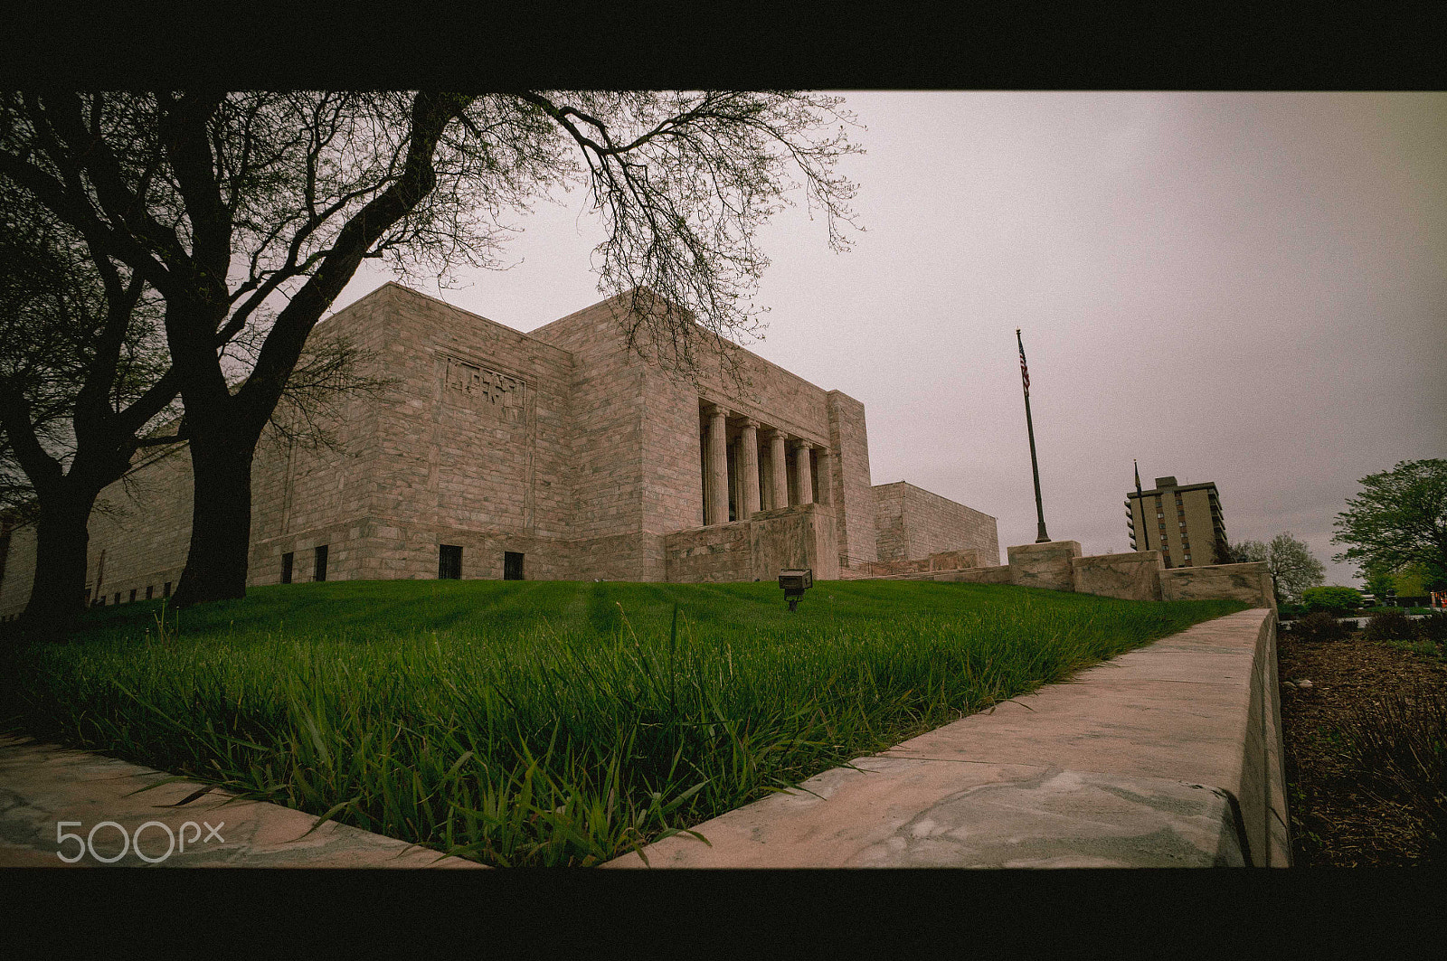
[[[96,499],[177,389],[155,294],[0,185],[0,498],[36,528],[35,631],[80,612]]]

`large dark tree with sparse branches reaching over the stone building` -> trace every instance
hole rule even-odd
[[[838,107],[799,93],[22,93],[0,98],[0,177],[164,298],[195,476],[184,605],[245,595],[256,443],[365,258],[488,266],[505,214],[583,182],[608,229],[599,288],[631,294],[628,343],[696,369],[757,320],[754,234],[793,188],[845,245],[854,188],[833,165],[855,148]]]

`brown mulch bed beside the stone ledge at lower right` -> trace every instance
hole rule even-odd
[[[1324,643],[1282,632],[1276,654],[1294,864],[1427,864],[1421,819],[1405,805],[1372,797],[1346,755],[1341,725],[1393,689],[1443,686],[1447,661],[1363,640],[1360,631]],[[1311,680],[1311,687],[1286,685],[1299,679]]]

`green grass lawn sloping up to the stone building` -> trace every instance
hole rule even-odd
[[[1029,588],[255,588],[12,645],[7,729],[489,864],[596,864],[1243,609]],[[674,619],[674,612],[677,612]]]

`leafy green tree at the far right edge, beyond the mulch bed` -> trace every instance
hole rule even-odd
[[[1447,460],[1404,460],[1360,483],[1337,514],[1331,541],[1347,550],[1333,560],[1391,573],[1420,566],[1427,589],[1447,588]]]

